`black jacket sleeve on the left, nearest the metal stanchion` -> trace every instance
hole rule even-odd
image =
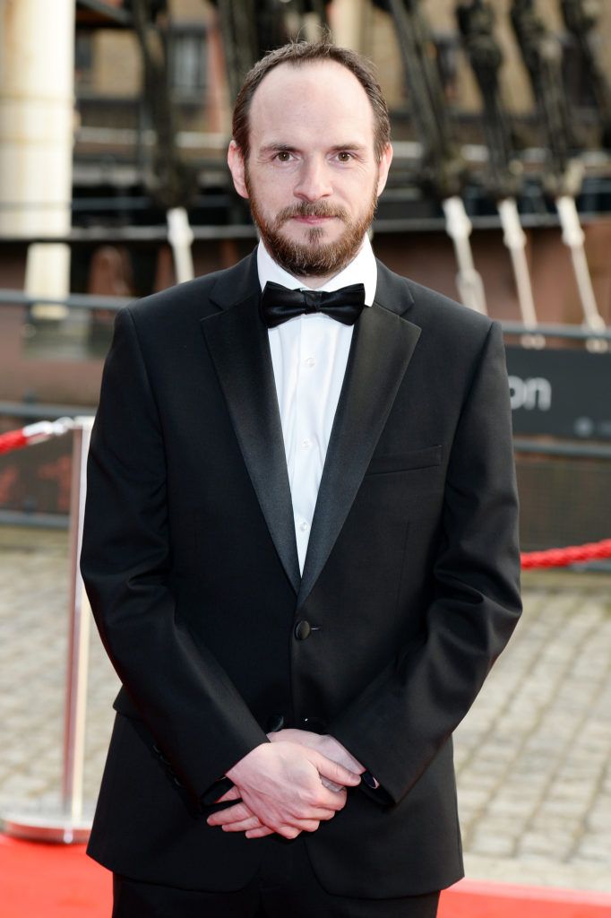
[[[81,569],[100,636],[135,711],[199,799],[267,737],[175,620],[164,443],[128,309],[117,315],[87,476]]]

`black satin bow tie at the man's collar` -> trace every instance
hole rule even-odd
[[[328,293],[325,290],[289,290],[268,281],[263,287],[259,311],[268,329],[303,313],[323,312],[344,325],[354,325],[365,305],[365,287],[351,284]]]

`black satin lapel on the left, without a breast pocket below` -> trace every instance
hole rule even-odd
[[[202,319],[208,350],[227,399],[252,487],[295,593],[300,574],[283,431],[259,295]]]

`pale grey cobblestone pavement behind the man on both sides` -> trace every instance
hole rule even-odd
[[[0,527],[0,813],[57,805],[67,537]],[[472,879],[611,890],[611,577],[533,572],[525,614],[456,733]],[[92,630],[85,799],[117,690]]]

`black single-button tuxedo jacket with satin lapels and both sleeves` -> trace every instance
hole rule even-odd
[[[500,330],[378,264],[300,577],[258,298],[250,256],[117,316],[82,569],[123,688],[89,852],[243,886],[290,843],[210,828],[207,802],[283,724],[381,784],[307,836],[323,886],[436,890],[461,877],[451,733],[520,610]]]

